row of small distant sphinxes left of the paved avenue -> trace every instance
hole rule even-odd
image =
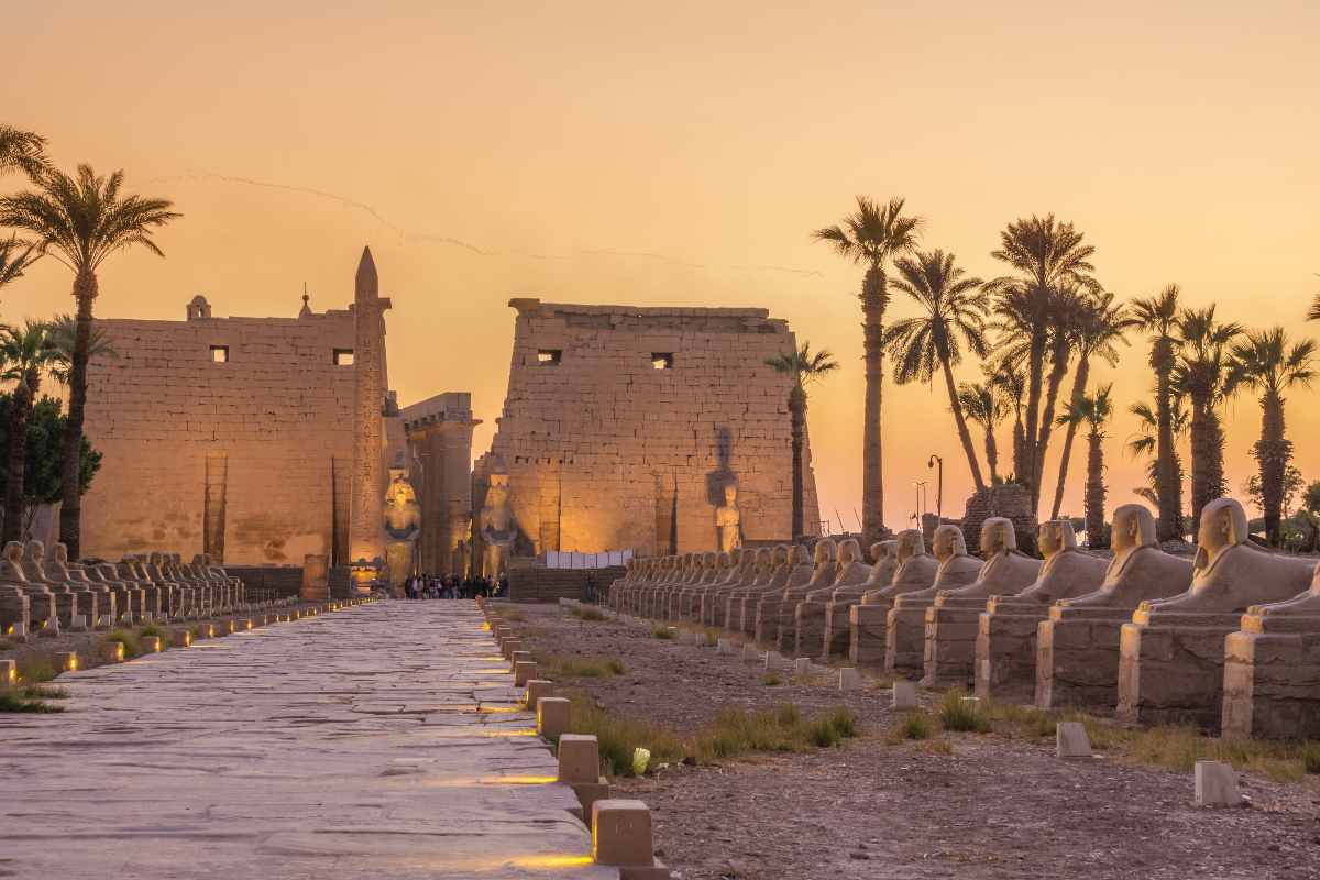
[[[108,629],[156,620],[194,620],[247,610],[259,599],[202,554],[129,555],[78,565],[63,544],[11,541],[0,558],[0,633],[57,636],[62,629]]]

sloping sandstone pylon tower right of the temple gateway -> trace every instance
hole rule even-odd
[[[486,474],[508,472],[516,554],[715,549],[727,480],[746,541],[791,537],[791,380],[764,363],[795,346],[787,322],[763,309],[510,305],[508,394],[473,501]],[[805,486],[814,533],[809,453]]]

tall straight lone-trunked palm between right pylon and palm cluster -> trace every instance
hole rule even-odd
[[[923,223],[919,216],[904,216],[903,204],[900,198],[890,199],[888,204],[882,206],[858,195],[857,211],[843,218],[841,226],[828,226],[813,232],[814,237],[832,244],[841,256],[866,264],[861,293],[866,358],[866,417],[862,430],[863,546],[884,537],[880,402],[884,383],[884,309],[890,302],[884,269],[890,260],[916,249]]]

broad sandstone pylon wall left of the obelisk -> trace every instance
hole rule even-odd
[[[352,310],[214,318],[197,297],[186,321],[98,326],[119,356],[88,369],[86,430],[104,458],[83,500],[84,555],[346,561]]]

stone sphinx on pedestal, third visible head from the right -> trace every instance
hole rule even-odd
[[[1030,703],[1036,697],[1036,629],[1060,599],[1100,588],[1109,561],[1077,548],[1068,520],[1041,522],[1045,557],[1036,582],[1015,596],[990,596],[981,612],[975,648],[975,695]]]

